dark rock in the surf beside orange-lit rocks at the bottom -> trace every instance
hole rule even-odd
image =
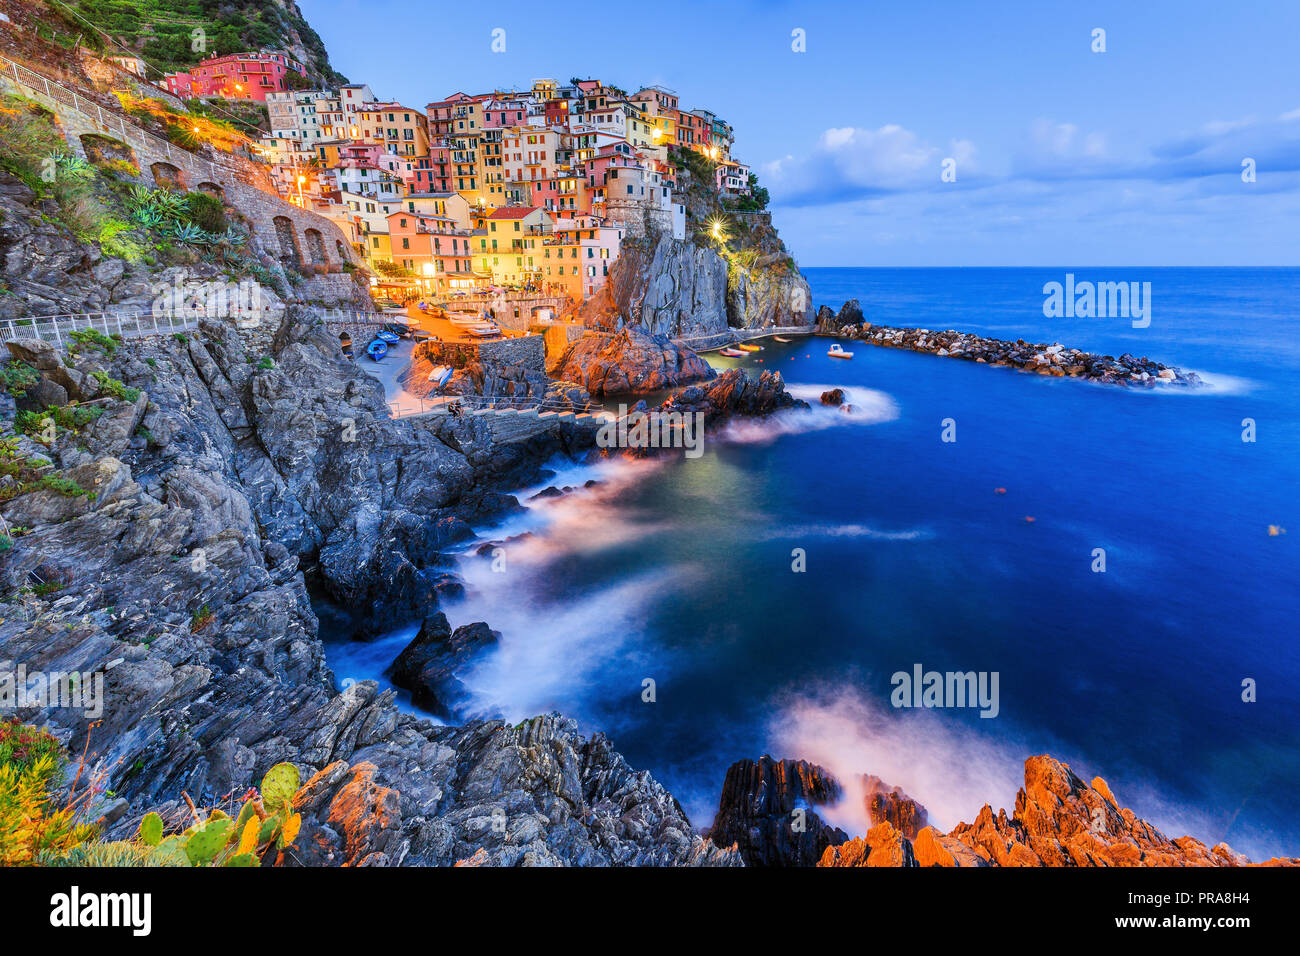
[[[848,839],[814,812],[841,792],[833,777],[806,761],[737,761],[727,770],[708,839],[734,844],[749,866],[811,866]]]

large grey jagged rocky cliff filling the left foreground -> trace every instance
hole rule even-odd
[[[308,579],[361,631],[432,613],[451,584],[439,549],[515,506],[497,488],[589,445],[580,427],[508,447],[485,420],[393,421],[299,307],[273,337],[208,323],[77,356],[8,345],[17,402],[68,405],[0,415],[0,661],[104,675],[98,723],[17,715],[90,735],[114,832],[287,760],[315,775],[286,862],[738,862],[599,734],[556,715],[437,726],[370,682],[339,692],[325,665]]]

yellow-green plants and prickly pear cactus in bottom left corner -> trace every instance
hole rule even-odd
[[[294,809],[298,769],[277,763],[260,793],[243,795],[234,817],[199,810],[182,795],[192,821],[183,829],[186,821],[169,827],[151,812],[133,839],[107,842],[91,812],[100,782],[77,788],[84,757],[69,787],[78,796],[55,806],[65,767],[64,750],[47,731],[0,723],[0,866],[260,866],[273,849],[292,845],[302,829]]]

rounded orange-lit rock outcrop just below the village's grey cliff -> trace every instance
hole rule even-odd
[[[707,381],[714,369],[699,355],[666,336],[629,326],[612,336],[588,334],[559,358],[554,376],[582,385],[593,395],[656,392]]]

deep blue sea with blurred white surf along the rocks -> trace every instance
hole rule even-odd
[[[1150,282],[1149,328],[1045,319],[1066,272]],[[476,710],[607,732],[698,826],[742,757],[827,766],[849,787],[831,818],[861,832],[857,775],[949,829],[1010,812],[1024,758],[1050,753],[1169,836],[1300,855],[1300,269],[806,274],[815,304],[855,298],[872,323],[1132,352],[1208,386],[849,342],[836,360],[826,338],[712,355],[814,405],[844,388],[854,411],[736,423],[698,459],[558,464],[538,489],[580,489],[562,498],[521,489],[528,511],[481,533],[532,536],[504,571],[463,555],[469,593],[447,609],[502,632],[467,675]],[[413,632],[330,661],[378,678]],[[997,715],[893,706],[916,665],[996,672]]]

